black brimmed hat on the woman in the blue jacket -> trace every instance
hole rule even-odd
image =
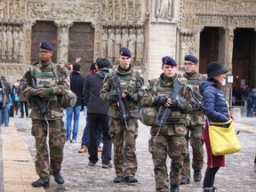
[[[207,80],[212,79],[214,76],[219,76],[220,74],[228,73],[228,70],[224,68],[224,65],[220,62],[211,62],[206,67]]]

